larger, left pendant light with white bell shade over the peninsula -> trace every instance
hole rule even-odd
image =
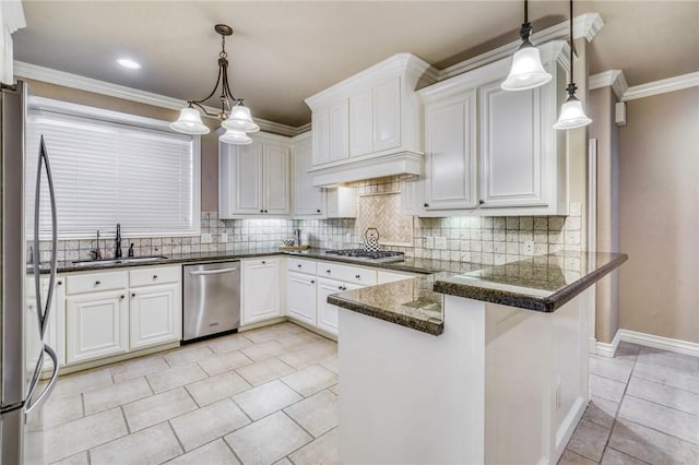
[[[522,45],[512,57],[512,68],[505,82],[500,84],[502,91],[526,91],[538,87],[552,80],[552,75],[542,65],[538,48],[529,40],[532,35],[532,24],[529,22],[529,1],[524,0],[524,22],[520,28]]]

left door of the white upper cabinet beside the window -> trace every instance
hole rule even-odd
[[[238,145],[233,156],[233,213],[254,215],[263,213],[262,199],[262,144]]]

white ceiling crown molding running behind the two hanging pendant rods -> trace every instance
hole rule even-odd
[[[538,33],[532,34],[532,44],[538,46],[552,40],[566,40],[569,34],[569,21],[556,24],[547,27]],[[595,35],[604,27],[604,21],[600,13],[584,13],[576,16],[573,20],[573,38],[584,37],[588,41],[592,41]],[[522,40],[518,39],[509,44],[502,45],[490,51],[478,55],[477,57],[453,64],[449,68],[445,68],[439,71],[439,81],[453,78],[458,74],[465,73],[466,71],[481,68],[485,64],[497,61],[501,58],[510,57],[517,51],[522,44]]]

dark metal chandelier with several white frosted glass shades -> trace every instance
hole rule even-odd
[[[221,35],[221,52],[218,53],[218,78],[213,91],[201,100],[189,100],[187,107],[182,108],[177,121],[170,123],[170,128],[185,134],[208,134],[209,128],[201,121],[201,114],[215,116],[222,120],[221,126],[226,132],[218,138],[221,142],[227,144],[245,145],[252,142],[246,132],[256,132],[260,127],[252,121],[250,109],[242,105],[242,98],[233,96],[230,85],[228,84],[228,53],[226,53],[226,36],[233,35],[233,28],[225,24],[216,24],[214,26],[216,34]],[[203,103],[209,100],[221,84],[221,112],[212,114],[206,111]],[[199,110],[197,108],[199,108]]]

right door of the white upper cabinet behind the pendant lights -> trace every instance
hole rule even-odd
[[[497,81],[478,94],[482,207],[546,205],[540,90],[505,92]]]

